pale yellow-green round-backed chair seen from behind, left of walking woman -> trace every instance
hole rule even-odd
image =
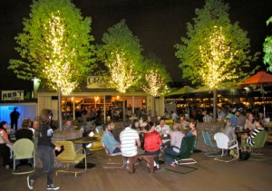
[[[33,158],[33,168],[26,171],[16,170],[15,160]],[[34,142],[28,138],[20,138],[14,144],[14,175],[23,175],[34,172],[35,149]]]

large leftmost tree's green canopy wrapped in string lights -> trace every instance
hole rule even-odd
[[[34,1],[24,32],[15,37],[22,60],[10,60],[8,68],[20,79],[37,77],[69,94],[96,66],[91,23],[70,0]]]

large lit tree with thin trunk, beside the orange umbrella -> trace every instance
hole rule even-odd
[[[249,55],[250,45],[247,32],[238,23],[231,24],[228,4],[221,0],[207,0],[202,9],[196,9],[197,17],[187,25],[188,37],[176,44],[176,56],[180,59],[182,78],[192,83],[208,85],[214,91],[219,83],[237,83],[245,77],[250,61],[257,58]],[[214,119],[216,119],[214,102]]]

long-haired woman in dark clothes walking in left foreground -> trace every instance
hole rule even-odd
[[[41,159],[43,168],[39,168],[34,171],[34,174],[27,177],[27,186],[29,189],[33,189],[34,180],[47,174],[47,186],[48,190],[58,190],[59,186],[53,185],[53,161],[54,154],[53,150],[60,151],[61,148],[53,145],[51,140],[53,136],[53,129],[50,127],[51,110],[44,109],[41,111],[40,119],[41,125],[39,128],[38,146],[37,153]]]

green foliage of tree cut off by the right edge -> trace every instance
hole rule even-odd
[[[267,25],[272,23],[272,16],[267,20]],[[272,36],[268,36],[264,43],[264,63],[267,64],[267,71],[272,72]]]

